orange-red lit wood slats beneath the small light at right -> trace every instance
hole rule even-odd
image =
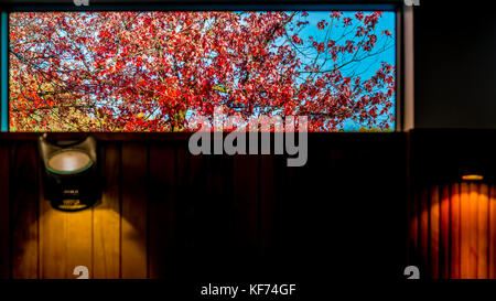
[[[462,182],[421,191],[421,209],[411,217],[420,221],[421,244],[410,254],[422,259],[421,273],[431,279],[495,279],[495,185]]]

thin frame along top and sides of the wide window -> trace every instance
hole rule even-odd
[[[95,2],[95,0],[94,0]],[[338,1],[323,1],[317,4],[302,4],[302,1],[287,3],[271,2],[263,4],[255,3],[229,3],[219,4],[218,2],[205,1],[198,3],[184,3],[165,0],[160,4],[153,2],[150,6],[130,4],[122,1],[122,4],[91,4],[88,7],[76,7],[67,4],[15,4],[2,9],[1,14],[1,92],[0,92],[0,132],[10,132],[10,106],[9,106],[9,14],[11,12],[29,11],[207,11],[207,10],[338,10],[338,11],[391,11],[395,12],[395,43],[396,43],[396,93],[395,93],[395,127],[393,132],[403,132],[413,128],[413,9],[403,6],[403,1],[382,1],[381,3],[370,4],[367,2],[353,2],[344,4]],[[127,4],[126,4],[127,3]],[[168,4],[169,3],[169,4]],[[333,133],[332,131],[325,133]]]

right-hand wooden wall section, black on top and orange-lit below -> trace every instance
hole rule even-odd
[[[409,265],[421,278],[496,277],[495,130],[409,133]],[[462,181],[465,172],[483,182]]]

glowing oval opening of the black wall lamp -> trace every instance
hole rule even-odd
[[[48,159],[48,169],[55,173],[75,173],[88,169],[93,164],[86,152],[79,150],[64,150],[56,152]]]

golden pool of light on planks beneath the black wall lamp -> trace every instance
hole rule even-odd
[[[75,213],[57,211],[48,202],[42,202],[40,217],[26,228],[31,233],[40,230],[40,238],[32,235],[19,237],[21,265],[32,262],[32,258],[36,260],[40,256],[41,279],[75,279],[74,267],[90,267],[91,261],[95,268],[90,270],[90,278],[95,279],[120,278],[121,258],[128,266],[145,265],[147,245],[141,237],[147,234],[143,228],[121,216],[119,207],[107,202],[104,198],[100,207]],[[121,243],[126,246],[125,250],[120,248]],[[26,266],[23,267],[26,269]]]

